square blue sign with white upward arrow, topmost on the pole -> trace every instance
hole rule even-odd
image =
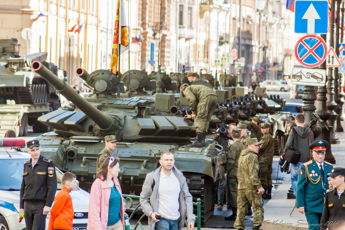
[[[327,33],[328,1],[295,1],[295,33]]]

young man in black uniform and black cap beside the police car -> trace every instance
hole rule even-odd
[[[19,214],[24,213],[27,230],[44,230],[57,189],[55,165],[41,156],[39,140],[26,144],[31,159],[24,163]]]

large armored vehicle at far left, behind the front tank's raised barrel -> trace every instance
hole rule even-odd
[[[39,60],[60,79],[64,73],[54,63],[46,62],[47,53],[34,53],[25,57],[7,57],[0,65],[0,136],[7,130],[17,136],[26,136],[28,125],[34,132],[47,132],[49,128],[37,118],[60,107],[59,93],[43,78],[31,70],[31,62]]]

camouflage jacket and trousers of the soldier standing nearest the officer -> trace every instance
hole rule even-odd
[[[256,189],[262,188],[259,180],[259,163],[256,154],[249,150],[242,150],[238,159],[238,190],[237,190],[237,218],[235,228],[245,229],[244,217],[248,204],[252,204],[254,217],[253,227],[261,226],[264,220],[263,201]]]

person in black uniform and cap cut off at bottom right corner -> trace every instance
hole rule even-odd
[[[345,229],[345,169],[334,168],[328,177],[333,188],[326,190],[320,230]]]

